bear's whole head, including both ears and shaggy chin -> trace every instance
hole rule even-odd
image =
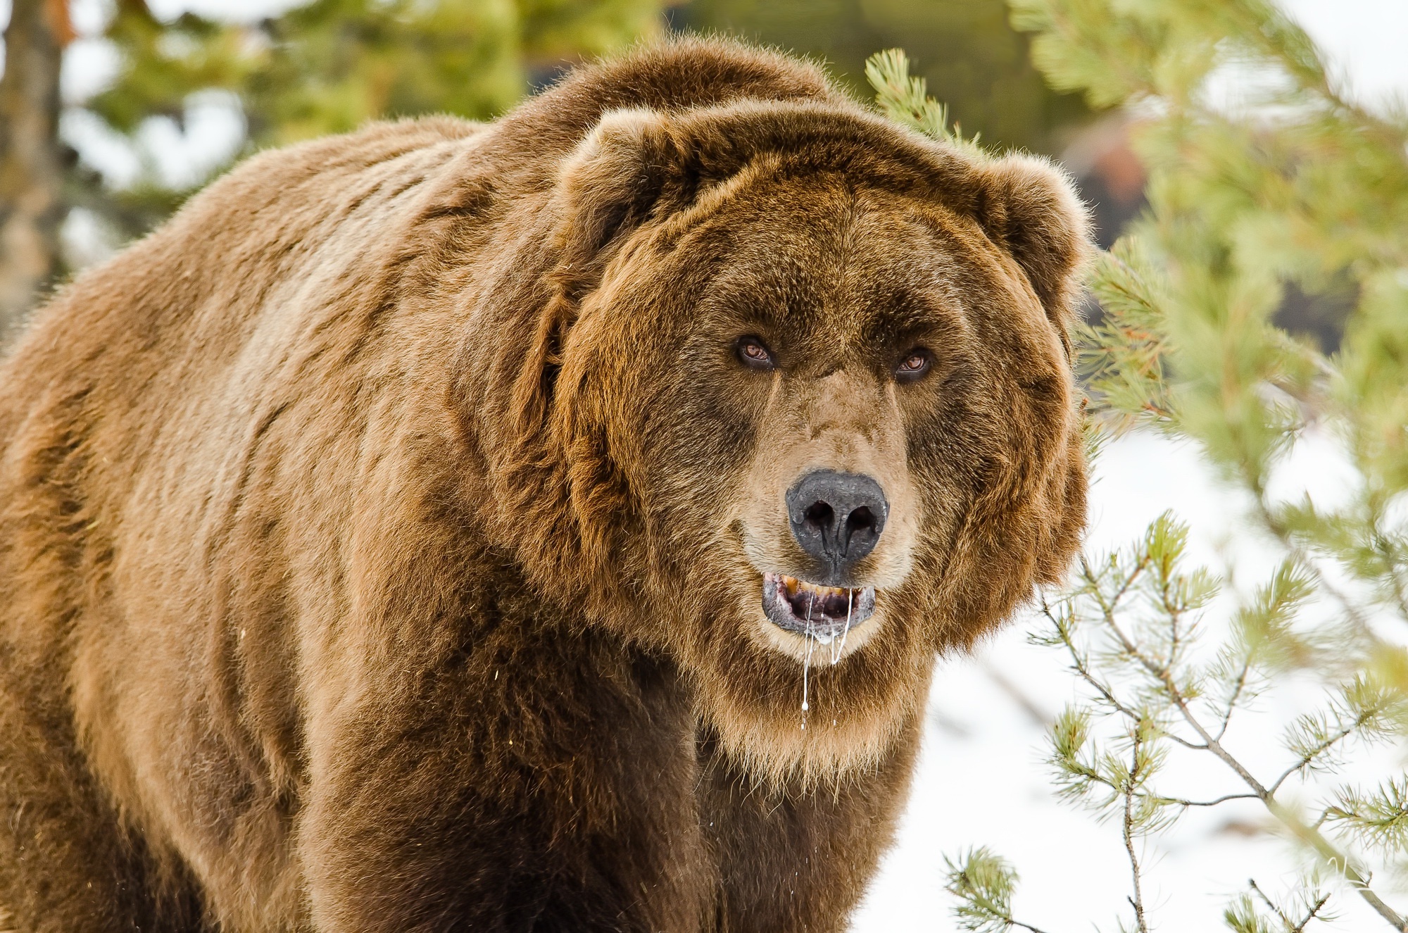
[[[1069,182],[738,101],[604,114],[549,204],[482,441],[496,536],[545,600],[672,658],[752,772],[876,761],[935,654],[1076,548]]]

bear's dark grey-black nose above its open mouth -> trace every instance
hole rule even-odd
[[[787,490],[793,537],[834,579],[874,550],[887,514],[890,503],[880,483],[860,474],[818,469]]]

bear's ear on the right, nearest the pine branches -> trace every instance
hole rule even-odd
[[[1064,172],[1008,155],[984,166],[979,223],[1017,259],[1070,354],[1080,271],[1091,254],[1090,216]]]

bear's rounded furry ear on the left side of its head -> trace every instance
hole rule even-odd
[[[566,279],[590,288],[612,242],[652,211],[677,163],[667,117],[656,110],[610,110],[559,169],[555,247]],[[566,285],[566,283],[562,283]]]

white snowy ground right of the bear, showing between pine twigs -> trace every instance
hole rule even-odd
[[[1164,509],[1173,509],[1191,526],[1190,565],[1231,565],[1235,588],[1255,586],[1280,560],[1269,541],[1247,530],[1245,503],[1209,475],[1188,444],[1129,435],[1105,450],[1095,476],[1091,551],[1128,544]],[[1318,503],[1332,505],[1349,479],[1335,444],[1315,435],[1297,445],[1276,485],[1281,496],[1298,499],[1308,490]],[[1229,595],[1209,610],[1209,634],[1231,600]],[[1062,933],[1094,925],[1115,930],[1117,916],[1129,919],[1129,863],[1118,823],[1097,823],[1088,812],[1059,802],[1042,764],[1042,719],[1055,716],[1074,696],[1074,678],[1062,653],[1025,641],[1032,624],[1021,619],[974,657],[941,661],[910,806],[898,841],[855,916],[855,933],[957,930],[950,910],[955,901],[943,891],[943,855],[977,844],[1015,864],[1022,877],[1015,913],[1026,923]],[[1308,679],[1277,685],[1253,712],[1233,719],[1229,748],[1245,755],[1263,781],[1280,774],[1290,762],[1276,741],[1281,726],[1319,698]],[[1329,781],[1376,781],[1394,768],[1401,774],[1404,754],[1377,750],[1357,761],[1362,764]],[[1187,798],[1246,789],[1211,760],[1180,762],[1176,755],[1169,774],[1176,779],[1160,789]],[[1269,892],[1291,884],[1297,864],[1291,848],[1266,827],[1256,802],[1238,801],[1215,810],[1191,810],[1173,832],[1142,850],[1153,929],[1224,929],[1222,909],[1245,889],[1249,877]],[[1402,894],[1394,902],[1408,908]],[[1336,896],[1335,903],[1340,920],[1332,929],[1388,929],[1356,895]]]

